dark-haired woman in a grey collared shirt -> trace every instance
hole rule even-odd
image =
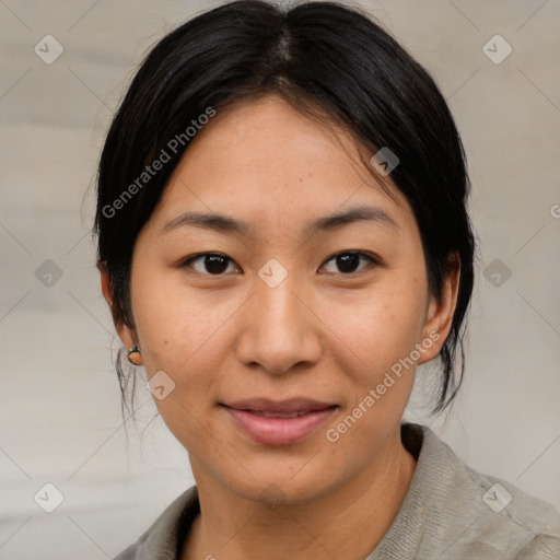
[[[419,364],[436,411],[460,385],[468,188],[436,85],[355,9],[242,0],[155,46],[98,267],[196,487],[119,560],[560,558],[552,506],[402,422]]]

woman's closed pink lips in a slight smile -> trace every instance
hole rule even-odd
[[[298,443],[326,423],[337,408],[328,402],[304,398],[283,401],[240,400],[224,405],[236,424],[257,443]]]

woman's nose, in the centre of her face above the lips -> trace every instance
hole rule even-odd
[[[294,366],[311,366],[320,358],[322,322],[313,312],[311,296],[291,275],[276,288],[260,278],[243,307],[237,357],[253,369],[258,364],[270,374]]]

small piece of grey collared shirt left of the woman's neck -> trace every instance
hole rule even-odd
[[[196,486],[175,499],[140,538],[114,560],[175,560],[178,546],[199,512]]]

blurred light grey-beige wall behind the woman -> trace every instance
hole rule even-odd
[[[110,558],[192,483],[142,384],[127,450],[118,345],[88,235],[93,198],[82,201],[137,65],[215,3],[0,0],[0,559]],[[419,390],[407,417],[472,467],[560,506],[560,2],[362,5],[448,100],[481,240],[460,399],[435,420]],[[47,34],[65,48],[51,65],[34,52]],[[482,49],[495,34],[513,47],[500,65]],[[35,276],[46,259],[63,271],[51,287]],[[482,276],[495,259],[511,270],[501,287]],[[47,482],[65,497],[50,514],[34,501]]]

